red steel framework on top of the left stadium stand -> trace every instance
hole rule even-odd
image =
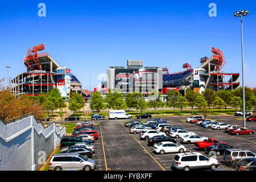
[[[38,46],[28,48],[27,55],[24,59],[24,64],[26,65],[26,67],[30,67],[31,71],[34,70],[32,67],[33,63],[35,63],[38,66],[38,68],[40,70],[42,70],[39,60],[38,60],[38,51],[42,51],[42,50],[46,49],[44,44],[45,43],[40,44]]]

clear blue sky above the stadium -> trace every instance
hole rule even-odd
[[[46,4],[46,17],[38,4]],[[217,16],[210,17],[209,3]],[[82,82],[96,87],[110,66],[142,59],[144,66],[184,71],[199,67],[211,47],[224,52],[225,72],[241,73],[240,19],[243,21],[245,85],[256,87],[256,1],[3,1],[0,0],[0,78],[14,77],[26,68],[27,49],[46,43],[46,50]],[[104,73],[104,74],[101,74]]]

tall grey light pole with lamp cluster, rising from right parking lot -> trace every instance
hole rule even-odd
[[[247,10],[243,11],[236,11],[234,13],[234,16],[240,16],[241,17],[241,44],[242,44],[242,89],[243,89],[243,127],[246,126],[245,123],[245,86],[243,85],[243,23],[242,23],[242,16],[246,16],[249,14]]]

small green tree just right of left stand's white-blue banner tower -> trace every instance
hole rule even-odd
[[[68,109],[72,110],[73,113],[76,113],[77,110],[84,107],[84,104],[85,104],[84,98],[79,93],[76,93],[76,92],[71,93]]]

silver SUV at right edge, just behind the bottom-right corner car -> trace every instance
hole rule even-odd
[[[246,149],[230,148],[225,150],[223,156],[225,162],[232,162],[246,158],[256,158],[256,154]]]

